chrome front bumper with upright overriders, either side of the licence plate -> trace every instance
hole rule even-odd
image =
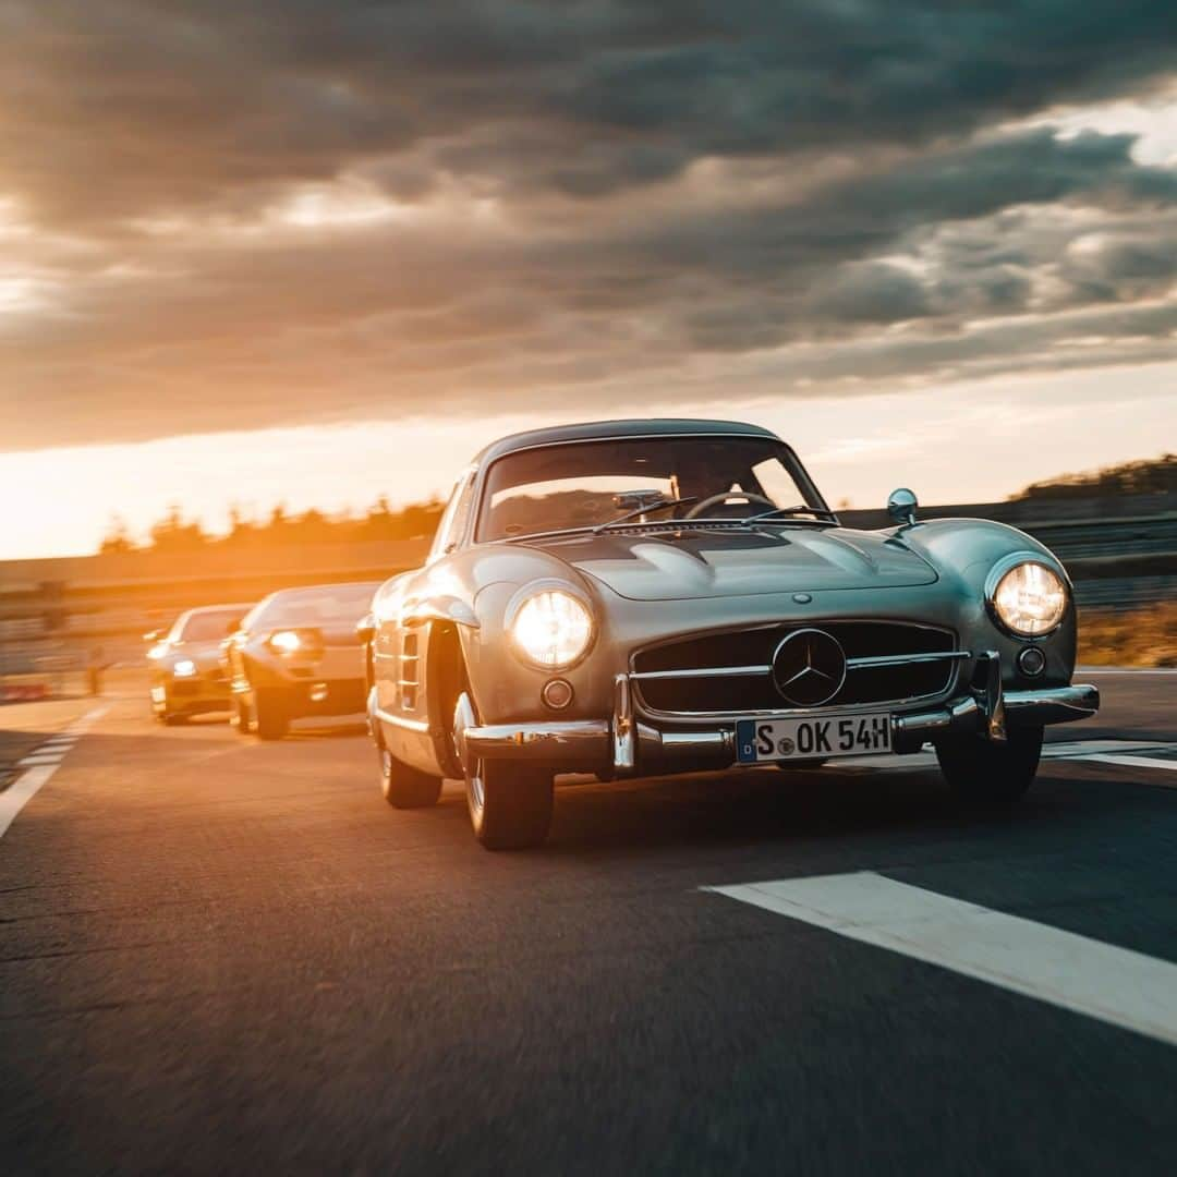
[[[935,706],[892,707],[891,745],[916,752],[925,743],[975,734],[1002,742],[1006,729],[1037,727],[1088,719],[1099,710],[1099,690],[1088,684],[1004,691],[1000,658],[978,661],[983,685]],[[837,709],[831,709],[837,710]],[[520,760],[557,771],[609,771],[617,774],[724,769],[737,764],[736,724],[663,730],[634,713],[629,674],[618,674],[609,719],[537,720],[481,724],[463,732],[466,754]]]

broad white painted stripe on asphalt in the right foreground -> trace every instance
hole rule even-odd
[[[1177,1045],[1177,965],[873,871],[704,887]]]

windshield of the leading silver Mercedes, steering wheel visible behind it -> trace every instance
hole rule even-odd
[[[819,508],[787,446],[760,437],[624,438],[507,454],[486,476],[478,539],[593,527],[643,503],[690,499],[653,520],[738,519],[777,507]],[[709,501],[713,500],[713,501]],[[640,521],[639,516],[634,517]]]

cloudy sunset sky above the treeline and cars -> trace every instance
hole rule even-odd
[[[1168,2],[0,0],[0,558],[769,425],[834,503],[1177,444]]]

